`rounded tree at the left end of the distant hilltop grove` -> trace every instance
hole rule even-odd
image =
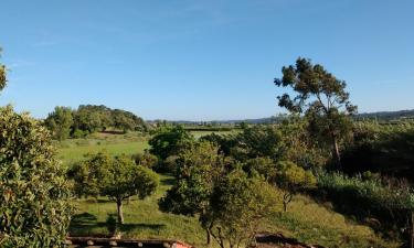
[[[55,107],[54,111],[49,114],[44,122],[55,139],[67,139],[73,126],[72,109],[66,107]]]

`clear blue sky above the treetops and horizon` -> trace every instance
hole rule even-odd
[[[146,119],[276,115],[298,56],[360,112],[414,108],[413,0],[1,0],[0,105],[106,105]]]

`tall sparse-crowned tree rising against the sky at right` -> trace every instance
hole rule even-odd
[[[331,144],[333,157],[340,165],[339,142],[351,130],[350,116],[357,107],[349,100],[347,84],[323,66],[299,57],[296,65],[284,66],[283,77],[275,78],[278,87],[288,87],[296,95],[278,96],[278,105],[290,112],[305,114],[312,134]]]

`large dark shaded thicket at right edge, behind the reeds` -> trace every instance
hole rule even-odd
[[[414,182],[414,126],[357,122],[353,142],[343,152],[347,173],[365,171],[405,177]]]

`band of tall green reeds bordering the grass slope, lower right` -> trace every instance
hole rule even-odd
[[[323,173],[318,176],[318,188],[338,211],[361,220],[373,217],[375,227],[388,234],[408,235],[414,211],[414,192],[408,185],[384,182],[369,173],[364,177]]]

